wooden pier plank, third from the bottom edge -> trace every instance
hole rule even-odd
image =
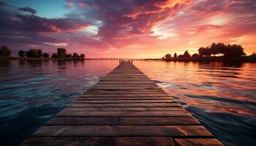
[[[189,117],[55,117],[48,126],[192,126],[200,125]]]

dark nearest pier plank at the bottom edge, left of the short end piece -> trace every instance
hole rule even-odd
[[[174,146],[169,137],[31,137],[20,146]]]

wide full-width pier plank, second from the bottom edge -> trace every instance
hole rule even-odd
[[[212,137],[203,126],[42,126],[37,137]]]

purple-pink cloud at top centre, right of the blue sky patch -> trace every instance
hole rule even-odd
[[[85,17],[102,22],[98,35],[108,41],[151,34],[154,25],[176,15],[185,4],[170,0],[69,0],[68,3],[78,7]]]

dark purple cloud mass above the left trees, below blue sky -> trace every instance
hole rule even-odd
[[[0,42],[1,45],[17,49],[49,47],[49,44],[54,43],[69,44],[67,36],[61,37],[62,34],[78,31],[90,25],[85,20],[79,19],[49,19],[37,15],[23,15],[20,9],[15,9],[15,7],[0,9]]]

